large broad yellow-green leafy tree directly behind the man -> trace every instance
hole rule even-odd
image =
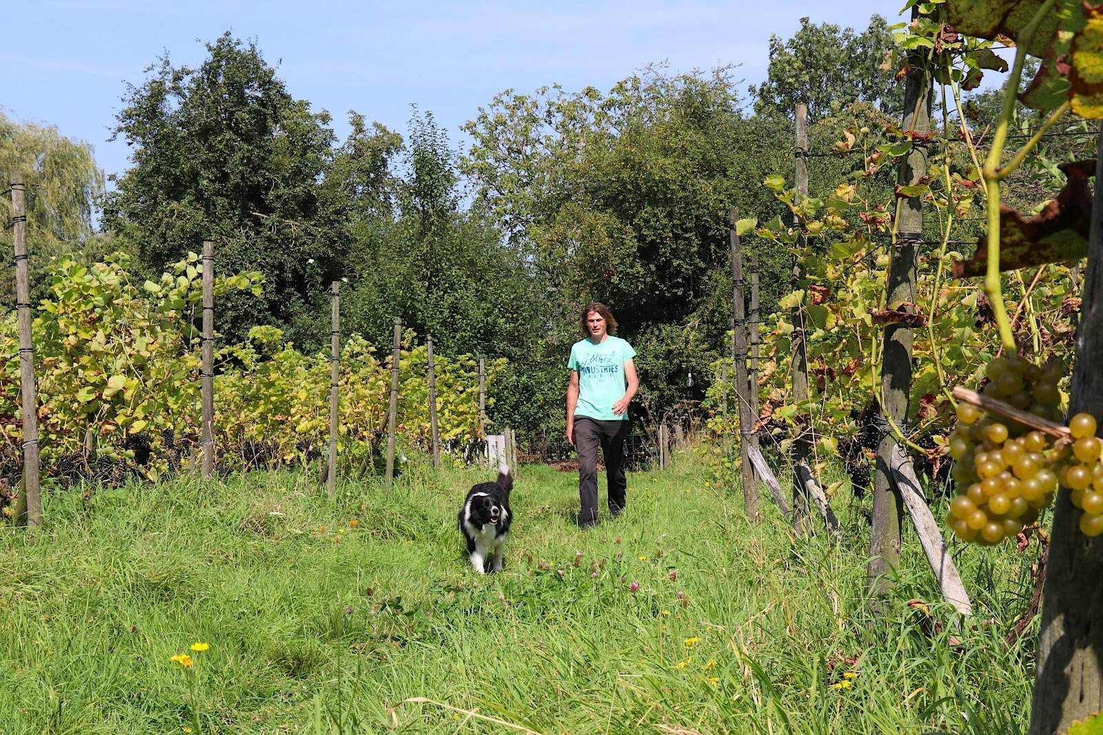
[[[725,344],[730,296],[718,307],[716,285],[728,207],[781,214],[761,182],[792,155],[783,121],[739,110],[730,69],[652,67],[607,95],[506,90],[465,126],[473,143],[461,169],[475,202],[544,284],[550,360],[579,338],[579,305],[598,299],[622,336],[646,346],[644,406],[703,396],[707,381],[687,389],[685,379],[707,375]],[[765,260],[780,274],[781,260]]]

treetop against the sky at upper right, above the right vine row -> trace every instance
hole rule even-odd
[[[758,98],[754,110],[792,117],[796,104],[804,102],[808,122],[815,122],[852,101],[864,100],[900,115],[902,88],[892,84],[896,69],[885,63],[893,48],[892,34],[880,15],[871,17],[861,33],[802,18],[793,37],[782,41],[770,36],[767,79],[750,87]]]

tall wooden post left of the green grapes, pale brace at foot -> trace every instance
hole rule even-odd
[[[918,9],[912,10],[915,17]],[[909,54],[910,71],[904,84],[903,129],[927,133],[931,130],[931,75],[925,55]],[[900,162],[897,183],[915,184],[927,176],[927,148],[914,145]],[[899,199],[899,216],[893,231],[895,249],[890,253],[887,309],[914,313],[919,245],[923,239],[922,196]],[[911,394],[911,348],[913,332],[902,322],[887,324],[881,341],[881,411],[885,418],[902,425],[908,418]],[[897,440],[882,430],[877,446],[874,475],[874,519],[869,533],[869,568],[867,584],[875,606],[888,594],[891,580],[888,572],[900,561],[900,525],[903,499],[892,473]]]

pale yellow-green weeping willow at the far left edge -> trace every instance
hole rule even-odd
[[[36,301],[45,293],[51,258],[88,249],[90,242],[98,241],[92,217],[104,193],[104,173],[88,143],[69,140],[53,126],[19,123],[0,114],[0,190],[8,188],[13,171],[21,172],[26,184],[31,296]],[[10,220],[10,196],[0,197],[0,214],[4,221]],[[11,240],[7,233],[4,237],[8,258]],[[14,271],[4,269],[0,277],[0,310],[14,304]]]

